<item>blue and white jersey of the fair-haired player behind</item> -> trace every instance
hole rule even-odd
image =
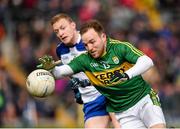
[[[61,42],[56,48],[56,54],[59,59],[61,59],[63,64],[68,64],[73,58],[85,52],[86,48],[84,47],[80,34],[77,43],[74,46],[68,47],[63,42]],[[73,77],[79,78],[80,80],[88,79],[83,72],[74,74]],[[88,86],[85,88],[79,87],[79,91],[84,103],[91,102],[101,95],[94,86]]]

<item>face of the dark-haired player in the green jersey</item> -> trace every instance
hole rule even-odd
[[[93,58],[99,58],[106,50],[106,35],[98,34],[94,29],[89,29],[82,35],[82,40],[87,51]]]

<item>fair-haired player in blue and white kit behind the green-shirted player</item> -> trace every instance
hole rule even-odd
[[[54,33],[59,38],[56,53],[63,64],[68,64],[73,58],[86,52],[76,24],[67,14],[57,14],[51,19]],[[85,60],[84,60],[85,62]],[[79,81],[88,79],[85,73],[80,72],[72,75]],[[101,95],[94,86],[76,87],[77,81],[71,81],[75,93],[76,102],[83,104],[85,128],[108,128],[112,119],[113,126],[119,128],[115,117],[106,111],[105,97]]]

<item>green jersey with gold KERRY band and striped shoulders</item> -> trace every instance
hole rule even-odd
[[[107,98],[108,112],[121,112],[135,105],[151,88],[141,76],[112,84],[110,78],[115,71],[123,73],[130,69],[142,55],[132,44],[108,38],[103,57],[94,59],[88,53],[81,54],[69,66],[74,73],[86,73],[96,89]]]

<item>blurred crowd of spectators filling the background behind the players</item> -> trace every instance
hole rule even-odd
[[[82,107],[67,79],[57,80],[47,98],[31,97],[25,87],[39,57],[57,60],[59,41],[49,21],[62,12],[77,28],[100,20],[108,35],[150,56],[155,67],[144,77],[159,93],[168,126],[180,127],[179,0],[1,0],[0,127],[83,127]]]

